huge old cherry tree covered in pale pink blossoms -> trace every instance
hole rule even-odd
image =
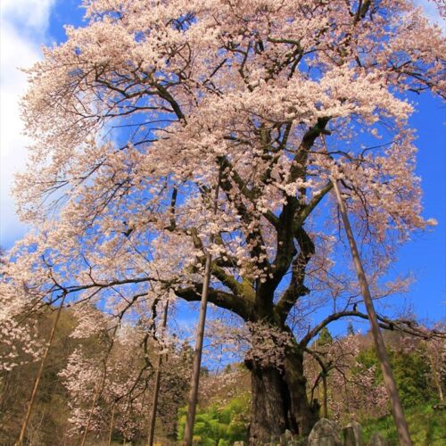
[[[306,346],[331,321],[367,318],[335,264],[344,245],[330,178],[367,247],[372,291],[385,295],[395,246],[434,224],[421,216],[408,120],[410,95],[444,96],[441,30],[409,0],[85,6],[87,26],[68,27],[28,70],[35,144],[15,194],[36,230],[11,252],[2,299],[23,311],[66,294],[136,321],[151,293],[199,301],[211,253],[209,301],[252,339],[268,327],[267,358],[246,361],[250,442],[308,434],[318,415]],[[293,310],[320,295],[337,296],[335,311],[296,336]]]

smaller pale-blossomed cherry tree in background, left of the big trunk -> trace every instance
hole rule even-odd
[[[191,360],[184,344],[155,324],[157,303],[164,301],[154,301],[152,318],[139,318],[136,326],[116,326],[112,315],[90,305],[75,307],[79,324],[70,336],[83,343],[59,374],[70,393],[70,434],[100,438],[108,432],[110,438],[119,433],[126,440],[146,440],[158,371],[154,358],[161,356],[159,427],[175,438]]]

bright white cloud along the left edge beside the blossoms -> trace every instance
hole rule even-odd
[[[23,169],[29,140],[22,135],[19,100],[27,88],[19,70],[41,58],[54,0],[2,0],[0,28],[0,246],[9,246],[26,227],[10,194],[13,172]]]

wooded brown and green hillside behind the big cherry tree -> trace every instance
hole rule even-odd
[[[101,311],[89,311],[99,324]],[[37,321],[37,341],[45,342],[54,316],[54,311],[48,312]],[[107,326],[87,336],[81,330],[72,311],[63,310],[29,421],[29,444],[79,444],[88,418],[86,444],[145,444],[159,354],[165,360],[155,443],[181,443],[192,372],[191,347],[179,342],[160,346],[153,338],[145,343],[138,326],[121,327],[112,343]],[[433,407],[442,401],[446,384],[444,343],[398,332],[387,332],[385,341],[416,444],[440,446],[446,435],[446,414]],[[19,436],[30,384],[39,365],[39,361],[29,362],[17,347],[16,360],[21,365],[0,374],[0,444],[4,445],[12,445]],[[337,337],[325,329],[310,345],[304,364],[309,399],[321,417],[340,425],[351,419],[359,421],[366,438],[380,431],[390,445],[397,444],[369,334],[355,333],[352,324],[345,335]],[[203,367],[194,442],[209,446],[246,442],[251,399],[251,378],[244,362]]]

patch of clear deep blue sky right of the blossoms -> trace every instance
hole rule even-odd
[[[417,174],[424,190],[424,216],[438,220],[429,232],[402,247],[395,270],[411,270],[417,283],[409,293],[419,318],[442,318],[446,303],[446,108],[438,99],[417,98],[411,124],[417,128]]]

